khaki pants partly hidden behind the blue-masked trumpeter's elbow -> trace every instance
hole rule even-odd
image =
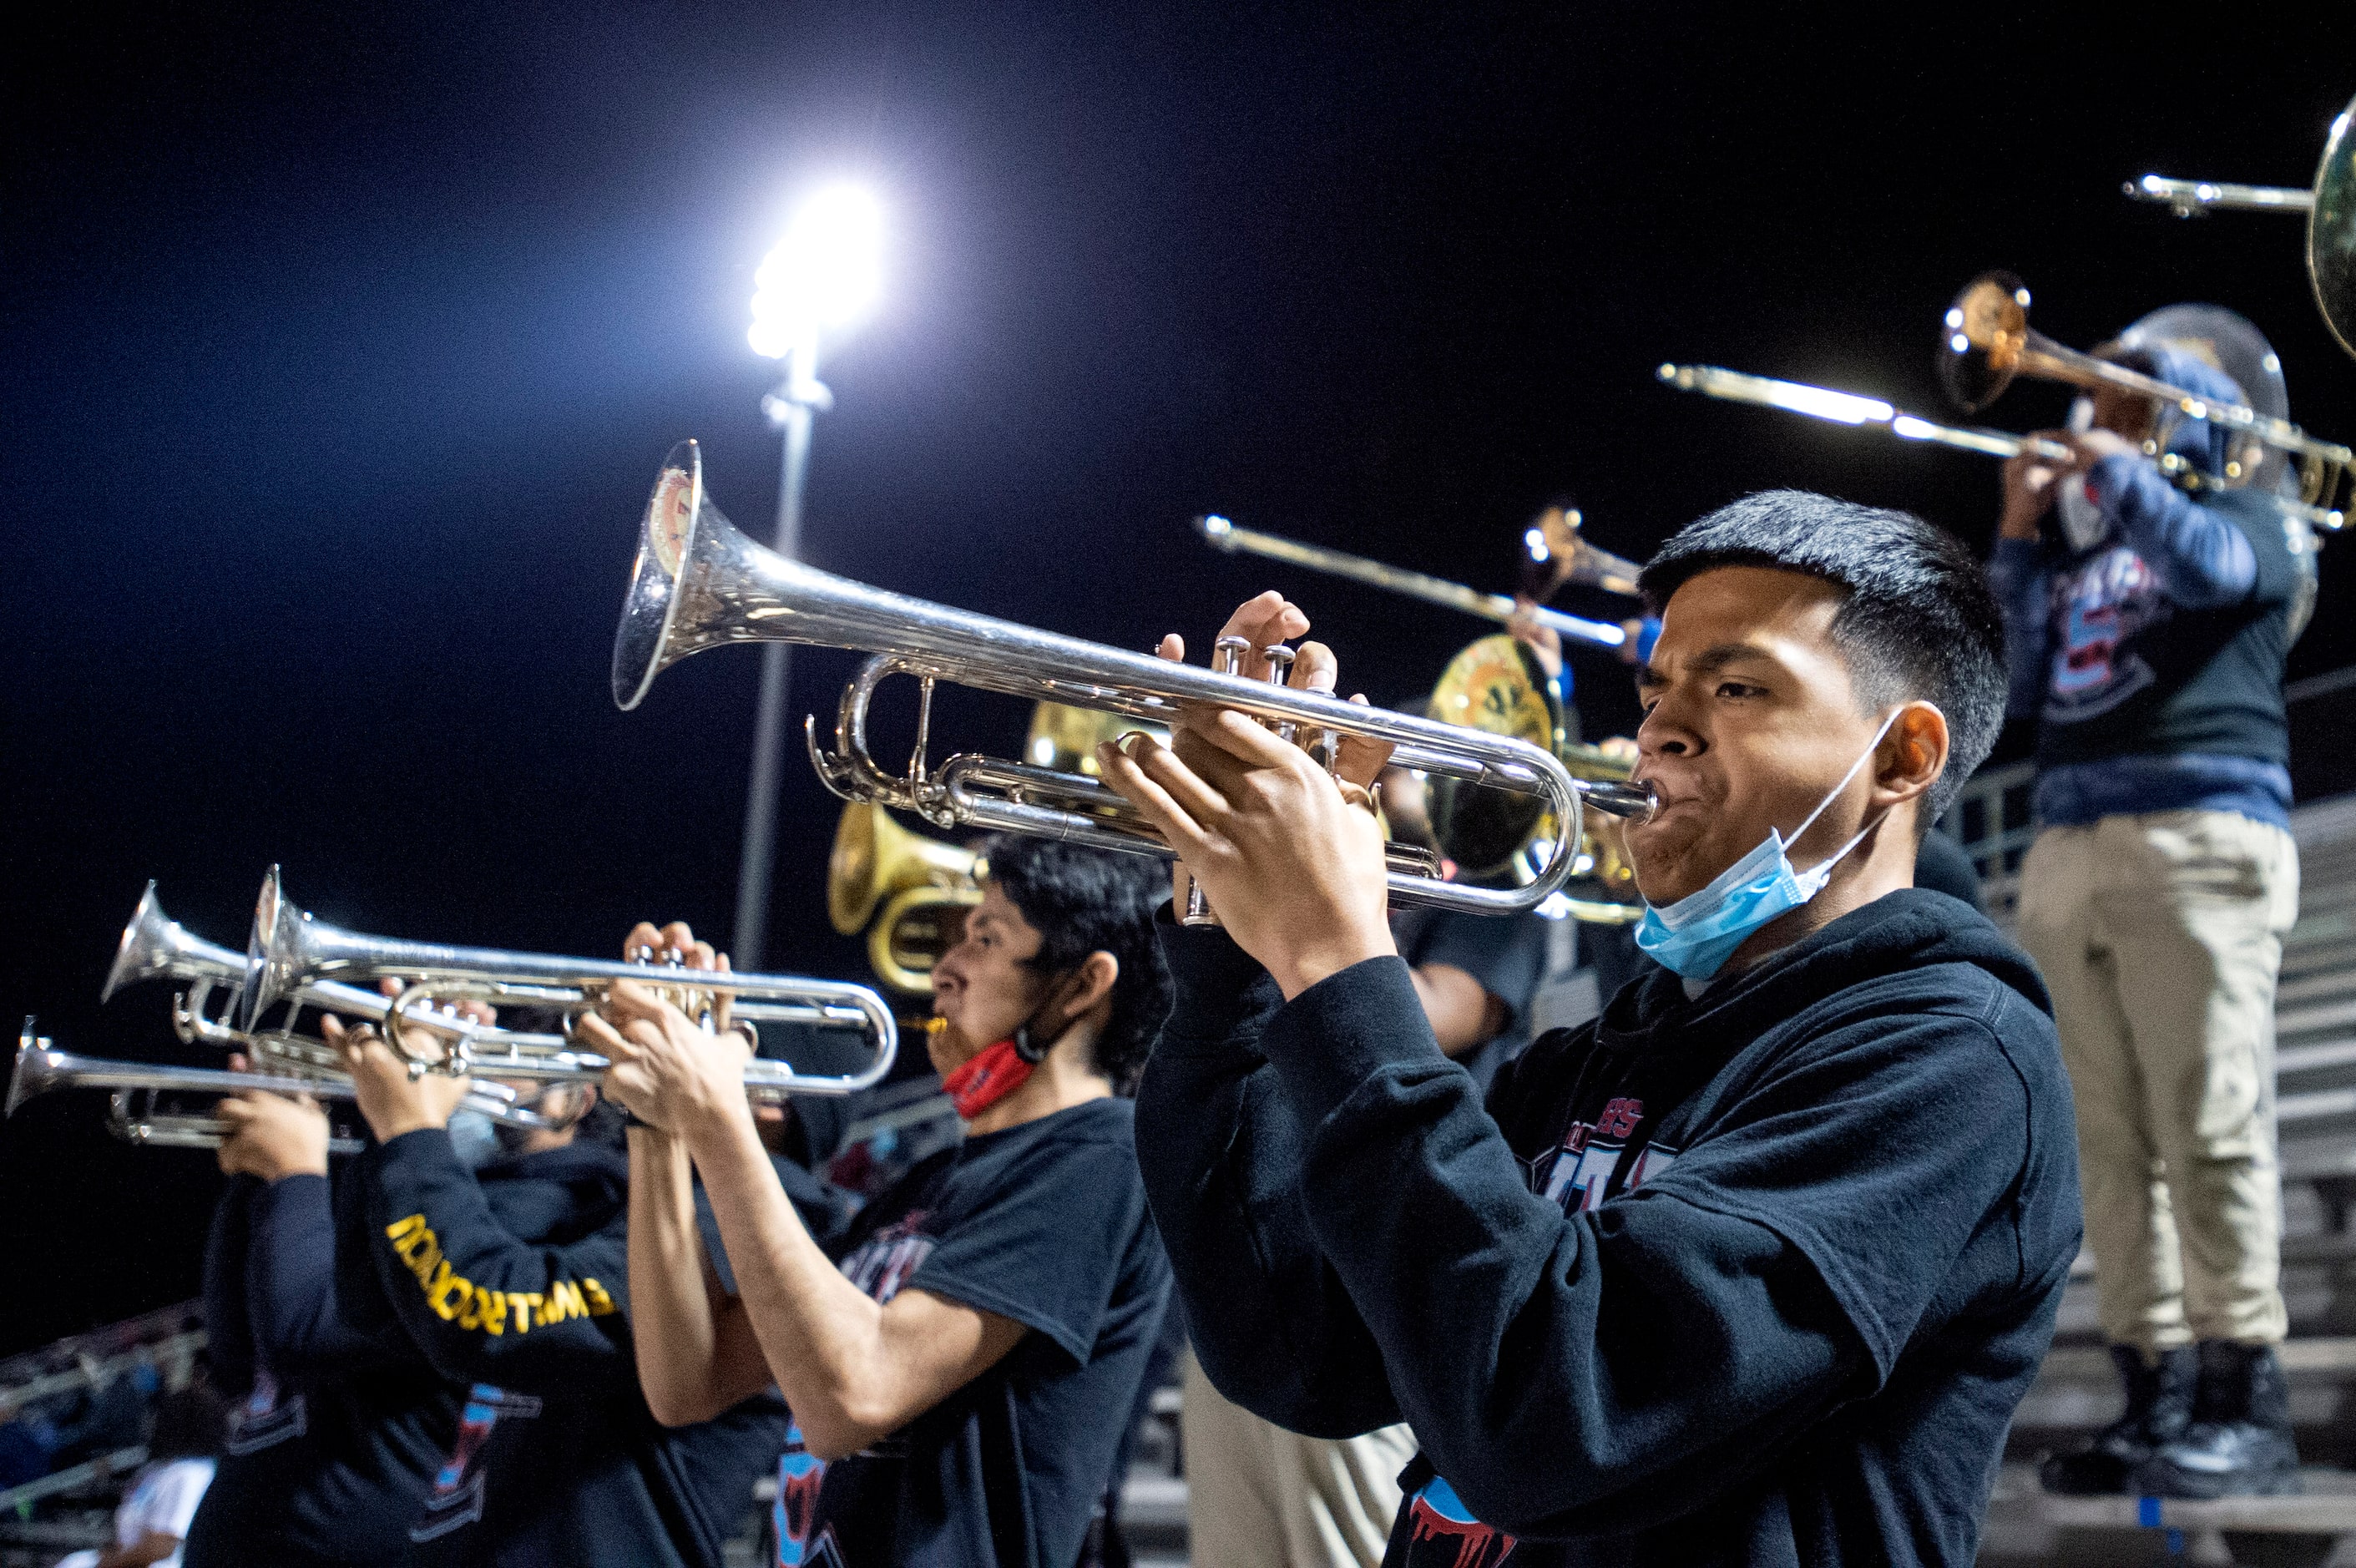
[[[1230,1403],[1185,1356],[1187,1556],[1202,1568],[1378,1568],[1399,1514],[1407,1427],[1303,1438]]]

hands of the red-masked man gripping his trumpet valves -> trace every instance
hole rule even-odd
[[[688,969],[728,974],[728,955],[695,941],[686,922],[660,931],[638,922],[624,953],[636,957],[648,950],[676,953]],[[752,1061],[752,1040],[728,1028],[728,995],[688,997],[700,1012],[709,1000],[712,1028],[681,1012],[676,997],[679,986],[660,979],[617,981],[598,1009],[580,1021],[582,1045],[613,1063],[605,1068],[605,1099],[641,1122],[681,1137],[730,1118],[749,1120],[744,1063]]]

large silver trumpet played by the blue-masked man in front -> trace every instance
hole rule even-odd
[[[832,752],[820,747],[815,719],[808,722],[810,764],[843,799],[900,806],[935,828],[992,828],[1096,849],[1164,858],[1173,854],[1152,823],[1096,778],[982,755],[957,755],[938,769],[928,766],[924,747],[935,681],[1164,726],[1185,710],[1232,707],[1322,752],[1326,766],[1343,736],[1381,740],[1392,747],[1399,766],[1534,795],[1562,825],[1536,879],[1517,889],[1444,882],[1432,856],[1392,844],[1390,896],[1399,903],[1475,915],[1534,910],[1571,877],[1581,802],[1630,818],[1644,818],[1654,806],[1642,785],[1571,778],[1553,755],[1527,740],[1058,637],[789,561],[744,538],[712,505],[704,495],[702,453],[695,441],[681,441],[664,460],[646,505],[638,559],[615,632],[613,698],[624,710],[636,707],[664,667],[690,653],[742,641],[801,641],[872,653],[843,691]],[[1225,655],[1223,663],[1235,663],[1237,651],[1218,653]],[[1291,651],[1277,648],[1275,655],[1282,672]],[[867,707],[876,686],[893,674],[919,684],[916,745],[900,769],[881,766],[867,750]]]

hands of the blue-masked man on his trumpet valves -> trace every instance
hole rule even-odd
[[[1270,592],[1237,608],[1220,634],[1249,639],[1253,655],[1242,674],[1265,679],[1258,648],[1308,625],[1298,606]],[[1185,644],[1164,637],[1162,658],[1183,660]],[[1303,644],[1291,684],[1331,693],[1336,672],[1331,648]],[[1383,832],[1369,795],[1388,757],[1388,745],[1345,738],[1329,776],[1308,750],[1225,707],[1180,714],[1171,745],[1129,736],[1098,747],[1105,783],[1162,830],[1220,924],[1286,997],[1397,953],[1385,917]]]

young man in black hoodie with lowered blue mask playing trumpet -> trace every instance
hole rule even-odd
[[[1927,523],[1788,490],[1644,589],[1661,804],[1628,851],[1663,969],[1487,1113],[1355,783],[1235,712],[1107,747],[1225,922],[1164,927],[1138,1115],[1197,1356],[1298,1431],[1414,1427],[1392,1566],[1970,1563],[2078,1250],[2045,990],[1908,887],[2003,717],[1996,604]],[[1265,597],[1227,630],[1308,622]]]

